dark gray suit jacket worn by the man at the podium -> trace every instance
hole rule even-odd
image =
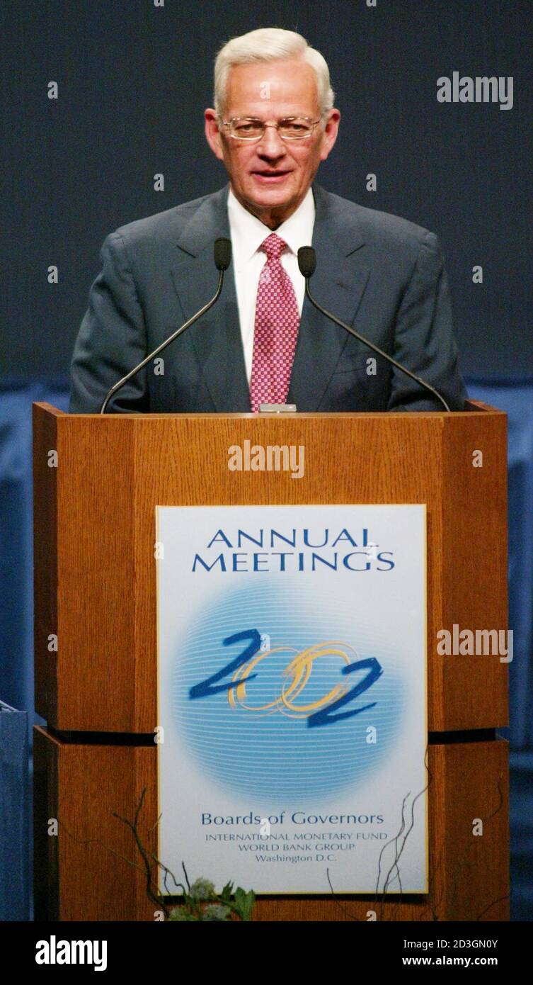
[[[213,240],[230,236],[229,185],[112,232],[72,361],[72,413],[107,390],[214,294]],[[427,379],[465,398],[437,236],[313,185],[317,300]],[[233,271],[207,315],[125,386],[109,411],[250,412]],[[298,411],[442,410],[431,394],[320,314],[306,297],[287,402]],[[160,366],[158,367],[160,369]],[[373,369],[376,371],[373,372]]]

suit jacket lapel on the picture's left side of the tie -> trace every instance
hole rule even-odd
[[[213,242],[230,238],[227,217],[229,185],[208,195],[177,241],[172,280],[183,311],[190,318],[211,297],[218,282]],[[214,410],[250,412],[250,391],[239,325],[233,267],[224,275],[222,294],[207,314],[188,329]]]

